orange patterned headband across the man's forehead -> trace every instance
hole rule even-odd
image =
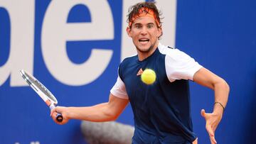
[[[154,13],[154,11],[152,9],[149,8],[141,8],[139,9],[139,13],[137,13],[137,15],[132,17],[132,21],[129,21],[129,27],[132,26],[132,23],[134,22],[135,19],[142,17],[142,16],[149,16],[151,18],[154,18],[154,20],[156,21],[157,26],[160,26],[159,21],[156,18],[156,14]]]

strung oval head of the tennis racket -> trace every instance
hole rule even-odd
[[[20,73],[28,85],[34,89],[44,101],[49,100],[51,104],[58,104],[58,100],[55,98],[55,96],[41,82],[39,82],[38,79],[33,77],[33,75],[29,74],[25,70],[20,70]]]

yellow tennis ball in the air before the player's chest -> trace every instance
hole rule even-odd
[[[146,69],[142,72],[141,78],[145,84],[153,84],[156,81],[156,73],[154,70]]]

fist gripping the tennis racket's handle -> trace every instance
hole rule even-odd
[[[63,107],[63,106],[57,106],[55,109],[52,109],[50,111],[50,116],[53,118],[53,121],[55,121],[55,123],[58,123],[60,125],[63,125],[65,123],[68,123],[68,108],[67,107]],[[58,122],[56,120],[56,116],[57,116],[57,113],[61,113],[62,116],[63,116],[63,121],[62,122]]]

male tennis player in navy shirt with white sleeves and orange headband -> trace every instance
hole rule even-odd
[[[132,143],[197,143],[190,113],[188,80],[213,89],[213,112],[201,111],[211,143],[228,101],[225,80],[198,64],[180,50],[161,45],[161,19],[154,2],[142,2],[129,9],[127,34],[137,48],[137,55],[127,57],[119,65],[117,82],[110,90],[107,103],[87,107],[61,107],[51,111],[69,119],[114,121],[130,102],[134,113]],[[146,85],[140,71],[156,72],[156,82]]]

